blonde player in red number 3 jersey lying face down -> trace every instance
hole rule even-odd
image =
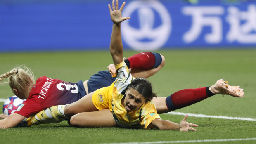
[[[165,64],[164,56],[155,52],[141,52],[128,57],[125,61],[130,66],[131,73],[136,77],[143,76],[145,78],[154,75]],[[109,71],[111,71],[111,66],[113,65],[109,65]],[[5,124],[3,127],[6,128],[14,127],[24,118],[50,106],[71,104],[90,92],[111,85],[115,77],[112,77],[109,71],[99,71],[92,75],[89,80],[85,82],[80,80],[77,83],[68,83],[45,76],[38,78],[34,83],[33,72],[25,66],[14,68],[2,74],[0,81],[9,77],[9,85],[13,93],[20,99],[27,99],[27,101],[12,116],[8,117],[1,114],[0,119],[8,118],[0,120],[0,127],[2,127],[1,124]]]

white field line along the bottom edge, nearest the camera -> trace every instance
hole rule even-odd
[[[123,142],[123,143],[103,143],[103,144],[170,144],[170,143],[192,143],[192,142],[228,142],[228,141],[249,141],[256,138],[246,139],[203,139],[203,140],[188,140],[188,141],[156,141],[156,142]]]

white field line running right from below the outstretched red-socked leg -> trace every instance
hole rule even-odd
[[[221,119],[228,119],[228,120],[256,121],[256,119],[252,119],[252,118],[239,118],[239,117],[229,117],[229,116],[211,116],[211,115],[204,115],[204,114],[181,113],[181,112],[174,112],[174,111],[168,112],[167,114],[183,115],[183,116],[188,114],[188,116],[194,116],[194,117],[200,117],[200,118],[221,118]]]

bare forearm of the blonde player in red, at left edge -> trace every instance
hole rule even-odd
[[[11,115],[7,116],[5,119],[0,120],[0,128],[11,128],[15,127],[20,123],[22,120],[24,120],[26,117],[21,116],[17,113],[12,113]]]

